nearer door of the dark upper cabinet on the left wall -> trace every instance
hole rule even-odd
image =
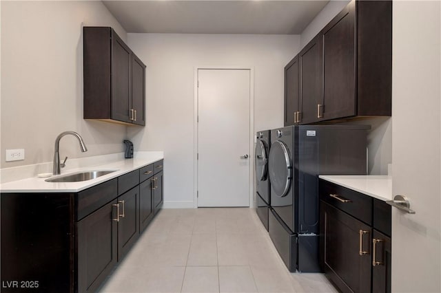
[[[112,30],[112,119],[132,122],[132,51]]]

